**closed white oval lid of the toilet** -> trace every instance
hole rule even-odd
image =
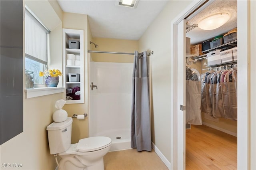
[[[76,149],[78,152],[91,152],[106,148],[111,144],[111,139],[105,136],[94,136],[80,139]]]

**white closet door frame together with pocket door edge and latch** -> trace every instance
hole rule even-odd
[[[194,15],[195,13],[200,12],[202,9],[206,8],[209,4],[213,3],[213,1],[206,2],[204,4],[203,1],[200,2],[192,2],[187,8],[187,11],[182,12],[177,16],[175,20],[172,21],[172,31],[174,34],[172,37],[172,57],[173,57],[173,92],[174,92],[174,108],[173,108],[173,118],[174,118],[174,131],[173,131],[173,148],[172,152],[172,161],[173,161],[173,169],[185,169],[186,168],[186,130],[185,130],[185,122],[186,122],[186,111],[182,106],[186,105],[186,84],[185,84],[185,58],[186,58],[186,20],[188,16]],[[247,28],[247,23],[244,23],[243,20],[247,19],[246,14],[243,14],[242,11],[246,11],[246,3],[237,2],[240,4],[237,15],[240,17],[238,20],[238,28],[240,29],[240,34],[238,31],[238,39],[239,45],[247,44],[246,37],[242,37],[241,32],[245,31]],[[201,8],[199,8],[201,6]],[[195,12],[196,11],[196,12]],[[231,28],[232,29],[232,28]],[[230,30],[231,30],[230,29]],[[177,36],[177,37],[176,37]],[[246,49],[242,49],[242,47],[238,46],[239,53],[247,53]],[[238,53],[238,54],[239,54]],[[182,57],[183,56],[183,57]],[[248,59],[243,59],[242,56],[238,55],[238,65],[239,71],[247,72],[248,70]],[[183,76],[181,76],[183,75]],[[243,89],[246,88],[246,89]],[[247,106],[247,97],[248,97],[248,80],[246,77],[239,77],[238,81],[238,145],[237,145],[237,167],[238,169],[248,167],[248,150],[250,150],[248,146],[248,119],[244,119],[240,117],[240,114],[243,114],[243,117],[248,117],[248,106]],[[241,91],[245,91],[244,95],[239,95]],[[175,121],[176,120],[176,121]],[[193,127],[192,127],[193,128]],[[176,150],[175,150],[176,148]],[[244,149],[247,148],[247,149]]]

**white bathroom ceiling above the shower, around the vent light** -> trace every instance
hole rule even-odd
[[[64,12],[87,14],[94,38],[138,40],[168,1],[140,0],[137,8],[115,0],[58,0]]]

